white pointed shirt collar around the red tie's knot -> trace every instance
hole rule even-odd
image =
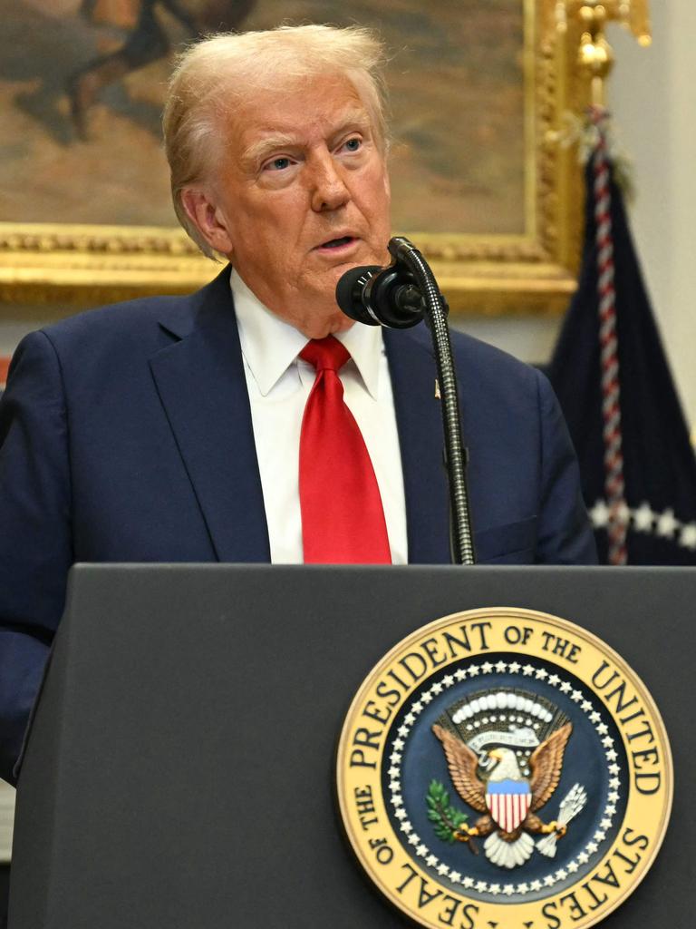
[[[265,307],[234,268],[230,286],[235,301],[241,351],[265,397],[297,359],[307,344],[307,337]],[[351,353],[370,396],[377,399],[380,360],[384,352],[381,327],[356,322],[346,332],[337,334],[336,338]]]

